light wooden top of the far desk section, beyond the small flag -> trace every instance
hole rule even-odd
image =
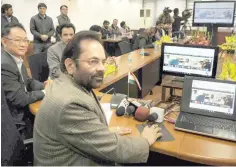
[[[117,82],[121,78],[124,78],[128,75],[129,70],[131,72],[134,72],[160,58],[161,55],[160,51],[158,53],[155,53],[154,49],[145,49],[145,52],[148,52],[150,55],[141,58],[140,52],[141,50],[139,49],[117,57],[116,61],[119,68],[118,71],[104,78],[103,84],[98,90],[102,90],[105,87]],[[129,54],[131,54],[132,57],[132,63],[130,65],[128,62]]]

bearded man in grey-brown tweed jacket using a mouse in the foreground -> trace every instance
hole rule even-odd
[[[146,126],[140,137],[111,128],[93,89],[103,83],[106,57],[96,32],[81,31],[67,44],[60,77],[48,87],[35,118],[34,165],[93,166],[146,162],[162,134]]]

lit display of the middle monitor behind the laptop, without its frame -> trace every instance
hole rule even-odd
[[[165,46],[163,72],[188,75],[213,75],[215,50],[181,46]]]

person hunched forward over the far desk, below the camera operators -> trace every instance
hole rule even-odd
[[[133,45],[133,50],[141,48],[153,48],[153,37],[157,32],[156,27],[150,27],[136,37]]]

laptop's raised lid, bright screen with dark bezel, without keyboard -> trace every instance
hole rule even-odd
[[[186,76],[181,111],[236,120],[236,83]]]

